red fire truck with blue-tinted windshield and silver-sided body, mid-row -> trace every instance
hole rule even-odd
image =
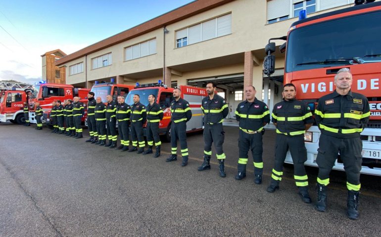
[[[187,132],[194,132],[202,130],[202,111],[201,100],[205,97],[206,90],[198,87],[181,85],[181,98],[189,102],[192,111],[192,118],[187,122]],[[159,83],[141,84],[137,83],[135,89],[131,90],[126,97],[126,104],[134,104],[133,97],[135,94],[140,96],[140,102],[143,105],[148,105],[148,95],[153,94],[156,96],[156,103],[160,105],[163,110],[164,116],[159,123],[160,135],[165,135],[167,141],[170,141],[171,134],[171,110],[170,105],[173,98],[174,88],[167,88],[160,81]],[[145,132],[144,132],[145,134]]]

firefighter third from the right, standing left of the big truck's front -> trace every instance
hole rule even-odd
[[[250,149],[254,163],[254,182],[261,184],[263,174],[262,135],[265,131],[263,127],[270,122],[270,111],[265,103],[255,97],[256,92],[254,86],[245,86],[246,100],[238,104],[235,112],[236,119],[239,121],[238,173],[235,178],[241,180],[246,177],[247,153]]]

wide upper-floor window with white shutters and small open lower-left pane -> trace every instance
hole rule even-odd
[[[214,39],[232,34],[232,14],[226,14],[214,19],[201,22],[176,32],[176,47]]]

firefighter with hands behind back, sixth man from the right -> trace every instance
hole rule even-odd
[[[147,144],[148,144],[148,150],[146,150],[143,155],[146,154],[152,154],[152,146],[153,141],[155,141],[156,146],[156,152],[153,157],[157,158],[160,156],[160,136],[159,136],[159,122],[161,119],[163,119],[163,110],[161,107],[155,102],[156,96],[151,94],[148,96],[148,102],[149,104],[146,107],[147,111]]]

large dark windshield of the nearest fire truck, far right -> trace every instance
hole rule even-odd
[[[380,22],[378,11],[291,31],[286,72],[381,62]]]

